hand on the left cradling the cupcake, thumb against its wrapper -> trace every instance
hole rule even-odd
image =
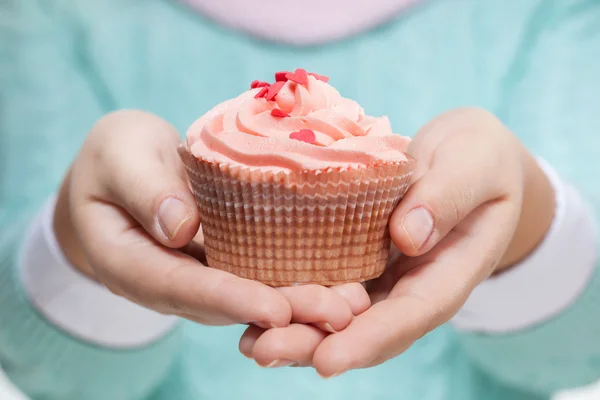
[[[369,307],[360,284],[277,290],[202,265],[180,141],[171,125],[141,111],[115,112],[93,127],[55,213],[57,239],[76,268],[144,307],[206,325],[341,330]]]

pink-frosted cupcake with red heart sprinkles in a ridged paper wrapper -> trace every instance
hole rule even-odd
[[[380,276],[410,139],[328,84],[278,72],[192,124],[179,149],[207,262],[271,286]]]

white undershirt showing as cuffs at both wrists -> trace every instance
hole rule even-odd
[[[452,321],[460,330],[525,329],[566,309],[589,282],[596,263],[593,211],[552,168],[540,165],[556,192],[552,227],[530,257],[475,289]],[[176,318],[117,297],[69,265],[52,228],[55,201],[32,222],[21,250],[21,280],[35,308],[60,329],[100,346],[141,346],[166,334]]]

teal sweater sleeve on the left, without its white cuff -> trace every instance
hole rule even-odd
[[[118,348],[86,341],[36,308],[18,271],[37,210],[114,108],[75,11],[61,0],[0,2],[0,365],[34,399],[137,400],[168,375],[177,330]]]

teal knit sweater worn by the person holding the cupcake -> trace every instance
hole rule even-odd
[[[175,1],[1,1],[0,364],[35,400],[529,400],[597,379],[600,275],[526,331],[444,326],[382,366],[325,381],[244,359],[243,327],[184,322],[129,350],[78,341],[32,308],[15,270],[32,213],[96,119],[141,108],[184,132],[252,80],[298,66],[405,134],[449,108],[487,108],[600,207],[599,22],[595,0],[431,0],[371,32],[291,48]]]

